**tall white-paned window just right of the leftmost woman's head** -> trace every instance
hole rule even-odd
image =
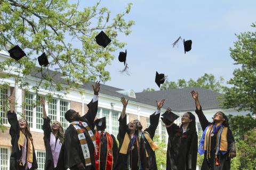
[[[26,115],[26,120],[28,121],[29,127],[33,127],[33,95],[26,93],[25,95],[25,115]]]

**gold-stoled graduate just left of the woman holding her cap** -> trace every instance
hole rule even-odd
[[[156,112],[150,115],[150,125],[142,131],[142,125],[139,120],[134,120],[138,126],[138,134],[140,139],[140,167],[139,169],[157,169],[155,150],[159,147],[154,143],[156,128],[159,122],[160,110],[164,105],[165,99],[157,102]]]

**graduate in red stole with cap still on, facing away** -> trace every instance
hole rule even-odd
[[[116,162],[117,143],[113,134],[109,134],[106,129],[106,117],[95,118],[95,138],[97,145],[97,156],[95,156],[96,170],[112,170]]]

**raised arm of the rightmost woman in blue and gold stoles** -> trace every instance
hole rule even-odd
[[[207,118],[205,117],[203,111],[202,111],[202,107],[199,103],[199,99],[198,99],[198,92],[195,92],[194,90],[192,90],[191,95],[193,97],[193,99],[195,100],[195,105],[196,105],[196,114],[199,118],[199,122],[202,126],[203,131],[205,130],[205,128],[210,124],[210,122],[207,120]]]

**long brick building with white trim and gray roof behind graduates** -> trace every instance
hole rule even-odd
[[[0,61],[5,60],[6,57],[9,57],[9,54],[1,51],[0,52]],[[2,117],[2,124],[7,127],[7,130],[0,132],[0,169],[9,169],[9,157],[11,153],[11,137],[9,135],[10,125],[7,122],[6,109],[4,101],[7,99],[7,96],[12,94],[14,90],[15,102],[17,103],[16,112],[23,114],[26,117],[30,125],[30,131],[33,135],[34,147],[37,155],[38,169],[44,168],[44,157],[45,157],[45,148],[43,142],[43,114],[42,106],[33,106],[34,101],[38,96],[35,95],[35,91],[30,89],[25,92],[25,90],[19,89],[17,84],[15,84],[14,78],[4,79],[1,78],[1,75],[4,75],[6,72],[10,72],[10,69],[0,72],[0,83],[9,83],[9,87],[5,89],[0,89],[0,116]],[[13,73],[15,74],[15,73]],[[41,78],[39,74],[31,74],[27,77],[26,81],[33,85],[35,80]],[[60,75],[55,75],[54,79],[63,80]],[[93,90],[89,82],[83,84],[82,88],[85,90],[85,94],[79,94],[79,89],[74,89],[69,92],[69,94],[64,95],[61,92],[58,95],[63,95],[62,98],[58,98],[57,95],[53,95],[53,100],[51,103],[46,104],[47,115],[51,118],[52,121],[59,121],[62,123],[63,127],[66,129],[69,123],[65,120],[65,112],[72,108],[79,112],[81,115],[86,114],[87,106],[93,97]],[[63,86],[65,82],[63,82]],[[115,136],[118,133],[118,118],[122,112],[122,103],[120,98],[125,96],[129,99],[129,104],[126,108],[127,121],[138,119],[143,125],[143,129],[149,126],[149,116],[154,113],[156,110],[156,100],[165,98],[166,102],[164,108],[162,109],[163,113],[167,107],[171,107],[173,112],[182,115],[185,112],[194,113],[194,100],[190,96],[190,91],[195,89],[199,92],[199,99],[201,105],[205,110],[206,117],[211,120],[212,115],[217,111],[222,111],[227,114],[238,114],[234,109],[223,110],[219,106],[220,100],[217,99],[217,96],[221,95],[217,92],[203,88],[186,88],[186,89],[172,89],[164,91],[154,91],[154,92],[138,92],[135,93],[133,90],[124,90],[115,87],[106,86],[101,84],[100,94],[99,94],[99,107],[97,117],[106,116],[107,121],[107,131]],[[49,91],[41,89],[39,91],[40,96],[45,96]],[[26,105],[24,105],[26,103]],[[239,114],[246,114],[248,112],[242,112]],[[177,124],[180,123],[180,118],[176,121]],[[197,119],[197,130],[198,134],[202,133],[201,126]],[[167,142],[167,132],[161,120],[159,120],[158,128],[156,134],[159,135],[159,139],[162,142]]]

